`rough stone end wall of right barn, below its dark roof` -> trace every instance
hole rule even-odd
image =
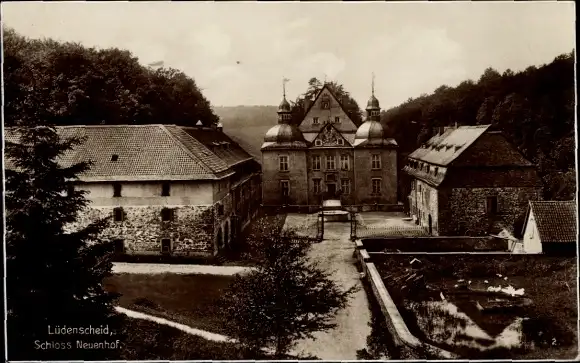
[[[486,200],[492,196],[497,196],[498,200],[496,214],[487,212]],[[447,210],[445,216],[439,218],[440,226],[444,227],[439,228],[439,234],[487,234],[498,221],[511,228],[514,221],[525,213],[528,201],[540,199],[539,187],[453,188],[447,192],[446,203],[439,204],[440,208]]]

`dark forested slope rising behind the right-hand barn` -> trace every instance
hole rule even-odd
[[[520,72],[488,68],[477,82],[440,86],[384,111],[381,122],[402,155],[429,139],[436,126],[491,124],[538,166],[545,199],[570,200],[576,193],[574,77],[574,52]]]

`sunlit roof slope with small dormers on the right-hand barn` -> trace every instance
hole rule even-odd
[[[435,135],[424,145],[409,154],[409,158],[431,164],[447,166],[457,159],[491,125],[459,126]]]

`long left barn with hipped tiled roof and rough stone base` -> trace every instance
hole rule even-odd
[[[57,132],[84,138],[59,163],[92,162],[71,185],[85,190],[90,204],[69,228],[110,217],[102,237],[119,254],[211,258],[234,243],[259,208],[260,166],[221,127],[95,125]],[[13,130],[6,138],[18,141]]]

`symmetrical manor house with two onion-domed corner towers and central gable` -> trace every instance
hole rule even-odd
[[[263,204],[316,206],[340,198],[349,206],[396,205],[397,143],[384,135],[374,90],[366,111],[366,121],[355,124],[325,84],[295,125],[284,92],[278,124],[261,148]]]

